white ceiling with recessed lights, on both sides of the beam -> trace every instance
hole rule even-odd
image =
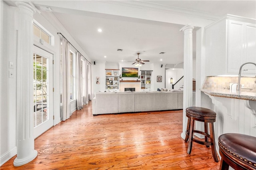
[[[134,61],[137,57],[136,53],[139,52],[141,53],[140,58],[142,60],[150,60],[147,64],[178,64],[183,62],[184,34],[180,32],[180,29],[184,25],[115,16],[107,14],[106,12],[96,13],[86,10],[86,1],[72,1],[69,7],[59,6],[58,4],[71,1],[35,0],[31,2],[38,9],[41,9],[41,6],[50,7],[54,16],[56,16],[60,23],[68,30],[80,47],[86,51],[92,61],[103,60],[107,63],[121,62],[121,60]],[[176,13],[184,12],[185,16],[189,13],[190,15],[194,14],[198,16],[198,18],[203,18],[203,16],[221,18],[226,14],[256,18],[255,0],[100,2],[108,3],[107,5],[113,4],[113,6],[118,3],[118,5],[129,6],[130,8],[150,8],[160,12],[161,10],[169,13],[171,11],[176,11]],[[83,7],[86,9],[83,10]],[[98,28],[101,28],[102,32],[98,32]],[[195,39],[194,34],[193,58],[196,57]],[[117,49],[123,49],[123,51],[117,51]],[[165,54],[159,54],[160,52],[165,52]],[[104,58],[104,56],[106,56],[106,58]],[[160,59],[162,59],[162,61],[160,61]]]

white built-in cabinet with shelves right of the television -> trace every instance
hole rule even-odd
[[[151,90],[151,75],[152,70],[140,70],[140,90],[150,91]]]

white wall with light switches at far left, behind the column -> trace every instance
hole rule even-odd
[[[1,165],[17,153],[16,147],[16,8],[1,3],[1,112],[0,112],[0,163]],[[12,45],[10,45],[12,44]],[[14,69],[9,69],[9,61]],[[14,78],[9,78],[9,71]]]

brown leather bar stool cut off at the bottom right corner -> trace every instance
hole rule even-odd
[[[256,137],[226,133],[219,137],[220,170],[256,170]]]

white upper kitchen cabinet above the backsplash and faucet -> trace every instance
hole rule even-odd
[[[256,20],[226,15],[205,28],[206,76],[238,75],[256,63]],[[252,64],[242,75],[255,76]]]

